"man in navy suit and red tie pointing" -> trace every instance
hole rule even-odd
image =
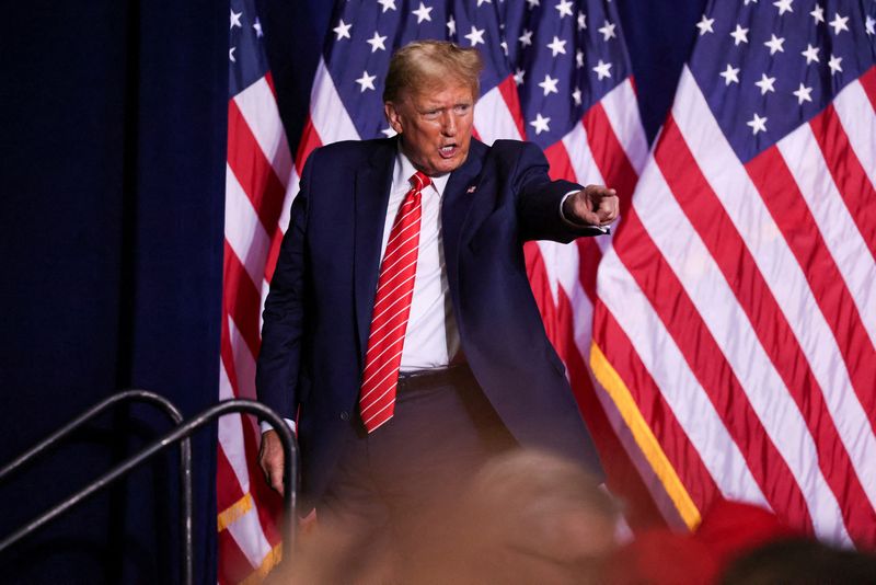
[[[391,524],[516,444],[599,473],[521,244],[604,233],[618,197],[551,181],[531,144],[473,139],[481,69],[450,43],[400,49],[383,94],[397,136],[330,145],[304,167],[256,386],[298,421],[320,517]],[[281,490],[273,431],[261,462]]]

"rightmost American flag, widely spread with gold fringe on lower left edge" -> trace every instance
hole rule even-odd
[[[708,2],[600,264],[590,363],[691,527],[876,546],[875,9]]]

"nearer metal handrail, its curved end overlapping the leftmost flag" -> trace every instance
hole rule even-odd
[[[298,447],[295,443],[295,439],[292,438],[291,429],[283,418],[280,418],[274,411],[272,411],[264,404],[261,404],[252,400],[243,400],[243,399],[227,400],[218,404],[215,404],[214,406],[210,406],[209,409],[195,415],[188,422],[181,424],[173,431],[166,433],[151,445],[145,447],[136,455],[129,457],[115,468],[111,469],[110,471],[107,471],[106,473],[94,480],[91,484],[87,485],[72,496],[68,497],[66,501],[61,502],[51,509],[37,516],[36,518],[27,523],[25,526],[16,530],[14,534],[0,541],[0,552],[9,548],[14,542],[21,540],[25,536],[30,535],[37,528],[42,527],[46,523],[55,519],[60,514],[71,508],[85,497],[92,495],[93,493],[103,489],[104,486],[115,481],[119,477],[124,475],[125,473],[127,473],[135,467],[139,466],[153,455],[158,454],[159,451],[165,449],[166,447],[173,445],[176,441],[184,440],[186,437],[192,435],[195,431],[197,431],[201,426],[208,424],[215,418],[218,418],[219,416],[227,414],[229,412],[246,412],[250,414],[255,414],[261,420],[269,423],[270,426],[274,427],[274,429],[279,435],[280,443],[283,444],[283,457],[284,457],[283,480],[284,480],[284,485],[286,486],[286,489],[283,492],[284,511],[285,511],[283,527],[281,527],[281,534],[285,535],[283,558],[290,559],[292,557],[292,551],[295,550],[296,528],[297,528],[296,506],[297,506],[297,494],[298,494]],[[189,492],[189,498],[191,498],[191,492]],[[191,578],[191,575],[192,575],[192,563],[189,559],[188,565],[186,566],[186,578]],[[188,581],[187,583],[191,583],[191,581]]]

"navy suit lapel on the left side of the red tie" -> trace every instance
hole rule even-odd
[[[379,140],[368,164],[356,173],[354,206],[356,213],[353,278],[356,295],[356,322],[359,334],[359,360],[365,358],[377,278],[380,272],[380,243],[392,186],[395,140]]]

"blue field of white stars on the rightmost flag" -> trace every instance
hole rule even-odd
[[[723,62],[712,59],[708,67],[695,66],[695,77],[712,85],[711,94],[716,97],[722,94],[718,88],[737,85],[739,93],[735,95],[741,100],[737,106],[769,117],[770,136],[782,136],[795,121],[816,115],[825,100],[848,82],[850,59],[858,67],[863,58],[860,39],[865,37],[866,19],[872,16],[863,11],[854,13],[849,5],[855,2],[838,0],[828,5],[811,0],[761,0],[737,10],[715,4],[696,23],[698,44],[717,56],[735,50]],[[710,30],[717,34],[712,35]],[[820,89],[812,76],[832,78],[830,91]],[[763,102],[769,94],[771,101]],[[722,125],[733,131],[729,121]],[[753,148],[747,136],[737,137],[738,148]]]

